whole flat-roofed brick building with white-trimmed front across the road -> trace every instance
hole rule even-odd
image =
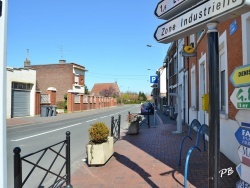
[[[57,90],[56,102],[63,101],[64,95],[68,90],[75,93],[84,93],[85,91],[85,67],[66,63],[65,60],[59,60],[58,64],[30,65],[29,61],[24,62],[25,67],[36,70],[36,89],[41,94],[47,93],[49,87]]]

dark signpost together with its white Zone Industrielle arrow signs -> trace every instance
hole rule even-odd
[[[156,15],[164,18],[164,11],[171,8],[164,8],[161,1],[156,8]],[[209,0],[198,1],[191,7],[187,1],[186,11],[177,15],[157,27],[154,38],[160,43],[170,43],[188,35],[194,34],[199,30],[207,31],[207,48],[209,64],[209,169],[208,187],[219,187],[220,170],[220,111],[219,111],[219,45],[217,23],[226,21],[237,15],[249,11],[250,0]],[[167,6],[166,6],[167,7]],[[191,8],[189,8],[191,7]],[[159,10],[160,9],[160,10]],[[177,10],[177,9],[175,9]],[[158,11],[158,12],[157,12]],[[167,11],[166,11],[167,12]],[[166,14],[167,15],[167,14]],[[242,167],[242,179],[245,180],[245,166]],[[250,172],[249,172],[250,174]],[[238,182],[241,183],[241,182]]]

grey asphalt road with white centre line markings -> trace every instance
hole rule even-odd
[[[13,149],[21,148],[21,156],[33,153],[50,145],[56,144],[65,140],[67,131],[71,135],[71,173],[73,173],[81,163],[86,159],[85,147],[89,141],[88,129],[94,122],[102,121],[107,126],[111,125],[111,116],[115,119],[121,115],[121,129],[127,127],[128,111],[139,113],[139,105],[124,105],[114,108],[90,110],[74,114],[58,115],[55,117],[34,117],[30,118],[30,123],[7,127],[7,157],[8,157],[8,188],[14,187],[13,180]],[[34,120],[34,121],[33,121]],[[56,147],[57,149],[59,146]],[[64,152],[62,152],[64,154]],[[40,156],[41,154],[39,154]],[[38,155],[31,157],[31,160],[36,162]],[[48,152],[39,164],[50,166],[51,161],[55,158],[53,152]],[[58,157],[53,166],[53,170],[59,170],[61,167],[61,158]],[[60,164],[59,164],[60,163]],[[23,178],[29,173],[32,166],[23,162]],[[38,187],[44,172],[34,170],[31,177],[27,180],[24,187]],[[40,178],[40,179],[39,179]],[[42,185],[48,187],[51,185],[51,176],[46,178],[46,182]]]

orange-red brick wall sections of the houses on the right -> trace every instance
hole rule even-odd
[[[236,19],[238,29],[237,31],[230,36],[230,24],[232,21]],[[232,92],[234,91],[234,86],[230,82],[230,75],[232,74],[234,68],[241,66],[243,61],[242,56],[242,31],[241,31],[241,17],[238,16],[236,18],[230,19],[226,22],[218,24],[218,31],[219,36],[226,30],[227,32],[227,46],[225,46],[225,50],[227,50],[227,64],[228,64],[228,108],[229,108],[229,119],[235,119],[235,115],[238,112],[238,110],[234,107],[232,102],[230,101],[230,96]],[[187,41],[188,39],[185,39],[186,44],[189,44]],[[197,58],[192,57],[189,60],[189,65],[187,64],[186,60],[186,67],[189,70],[189,87],[191,85],[191,68],[193,65],[196,65],[196,87],[197,87],[197,107],[199,106],[199,59],[201,58],[202,54],[207,53],[207,34],[203,36],[203,38],[200,40],[199,44],[197,44]],[[207,75],[208,75],[208,63],[207,63]],[[209,84],[207,76],[207,83]],[[207,84],[207,87],[208,87]],[[207,88],[208,91],[208,88]],[[191,95],[189,95],[189,104],[191,103]],[[190,106],[189,106],[190,107]]]

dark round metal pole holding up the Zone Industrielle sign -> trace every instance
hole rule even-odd
[[[208,186],[219,187],[220,170],[220,107],[219,107],[219,36],[217,23],[207,25],[209,67],[209,146]]]

